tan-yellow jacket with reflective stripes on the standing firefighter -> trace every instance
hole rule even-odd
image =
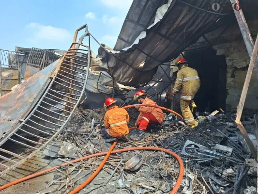
[[[177,79],[172,93],[177,94],[181,89],[181,99],[191,100],[200,88],[200,78],[197,70],[191,67],[182,67],[177,73]]]

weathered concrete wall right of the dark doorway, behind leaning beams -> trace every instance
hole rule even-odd
[[[227,109],[239,103],[250,58],[243,40],[213,46],[217,55],[225,55],[227,62]],[[244,108],[258,109],[258,79],[252,74]]]

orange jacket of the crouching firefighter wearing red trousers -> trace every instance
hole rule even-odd
[[[156,105],[157,103],[154,102],[152,99],[145,97],[144,101],[142,104],[152,104],[152,105]],[[139,125],[140,120],[142,119],[142,115],[144,113],[152,113],[152,115],[158,120],[158,122],[162,125],[165,114],[162,112],[162,110],[160,108],[155,108],[155,107],[149,107],[149,106],[141,106],[139,108],[139,116],[137,118],[136,121],[136,125]]]

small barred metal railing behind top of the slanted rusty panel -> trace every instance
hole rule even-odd
[[[54,63],[59,59],[59,56],[52,51],[46,49],[32,48],[30,50],[27,65],[44,69],[46,66]]]

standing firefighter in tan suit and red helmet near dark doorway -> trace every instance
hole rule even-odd
[[[184,58],[180,58],[176,62],[176,66],[178,66],[179,71],[177,73],[176,83],[172,91],[172,98],[174,98],[181,89],[181,112],[185,123],[193,129],[195,127],[195,119],[192,112],[195,108],[197,108],[193,99],[200,88],[200,78],[195,69],[188,67]],[[190,104],[192,106],[192,112],[190,110]]]

